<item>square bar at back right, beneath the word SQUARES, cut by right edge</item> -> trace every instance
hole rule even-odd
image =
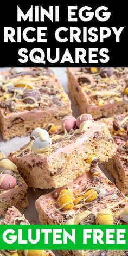
[[[128,68],[68,68],[68,88],[81,113],[94,119],[128,111]]]

